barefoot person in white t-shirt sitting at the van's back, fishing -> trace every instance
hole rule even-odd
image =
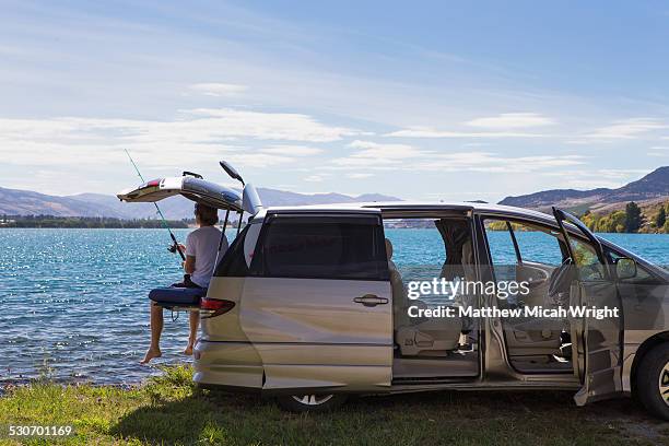
[[[196,203],[195,206],[197,230],[188,234],[186,237],[186,246],[179,245],[178,249],[186,254],[184,261],[184,281],[175,283],[172,286],[176,287],[209,287],[209,281],[213,274],[216,258],[222,258],[227,249],[227,238],[219,231],[216,222],[219,221],[218,210],[204,204]],[[220,249],[219,249],[220,247]],[[191,355],[195,345],[200,314],[198,310],[190,312],[190,333],[188,337],[188,345],[184,350],[184,354]],[[151,345],[141,364],[149,363],[154,357],[162,355],[160,342],[161,333],[163,332],[163,308],[151,302]]]

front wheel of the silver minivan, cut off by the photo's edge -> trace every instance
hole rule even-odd
[[[669,421],[669,342],[655,347],[638,364],[636,396],[648,412]]]

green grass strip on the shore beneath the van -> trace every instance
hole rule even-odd
[[[630,400],[576,408],[563,392],[437,392],[357,398],[329,414],[292,414],[271,400],[198,390],[191,369],[166,368],[144,386],[36,382],[0,398],[7,426],[74,426],[72,445],[659,445],[669,425]],[[44,438],[25,444],[50,444]]]

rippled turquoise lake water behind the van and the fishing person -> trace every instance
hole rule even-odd
[[[183,240],[188,231],[175,233]],[[400,268],[443,261],[436,231],[386,234]],[[545,250],[532,233],[520,237],[537,256]],[[669,265],[669,235],[603,237]],[[149,290],[181,278],[178,257],[167,244],[161,230],[0,230],[0,384],[40,375],[128,384],[155,374],[155,366],[138,361],[149,342]],[[174,322],[166,314],[163,357],[156,365],[190,361],[180,354],[187,327],[184,314]]]

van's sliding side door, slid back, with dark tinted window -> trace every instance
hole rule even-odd
[[[380,211],[268,212],[239,308],[262,389],[389,389],[388,275]]]

